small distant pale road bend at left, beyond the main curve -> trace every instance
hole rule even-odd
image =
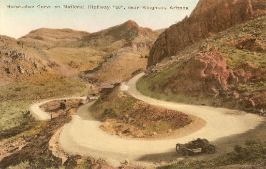
[[[49,120],[51,119],[51,115],[43,111],[40,106],[44,103],[53,101],[53,100],[64,100],[64,99],[86,99],[86,97],[64,97],[59,99],[51,99],[51,100],[45,100],[40,103],[34,103],[30,105],[30,113],[35,117],[36,120]]]

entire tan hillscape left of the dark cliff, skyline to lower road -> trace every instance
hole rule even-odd
[[[112,86],[146,67],[146,55],[158,33],[133,21],[107,30],[93,33],[100,35],[96,37],[103,42],[99,46],[71,46],[93,41],[88,32],[70,29],[42,28],[19,39],[0,35],[0,132],[12,135],[13,127],[19,127],[16,132],[25,130],[32,121],[22,116],[33,101],[89,94],[95,92],[85,83],[93,82],[90,77],[97,80],[96,85]],[[136,37],[127,39],[132,34]],[[114,40],[105,41],[105,37]]]

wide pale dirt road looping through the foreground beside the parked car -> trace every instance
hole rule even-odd
[[[154,154],[173,153],[175,144],[185,143],[192,138],[207,138],[210,141],[218,138],[244,133],[263,122],[264,118],[255,114],[230,110],[227,108],[212,108],[207,106],[192,106],[177,104],[149,98],[136,90],[136,81],[144,74],[133,77],[129,82],[121,85],[122,91],[127,91],[133,97],[152,105],[178,110],[204,119],[207,124],[200,130],[188,136],[177,139],[141,140],[112,136],[99,128],[101,123],[95,121],[88,113],[86,104],[73,115],[71,123],[66,124],[59,138],[63,149],[69,153],[90,155],[103,158],[112,166],[119,166],[128,159],[139,165],[153,165],[156,159]],[[153,159],[143,160],[151,156]],[[162,157],[162,155],[161,155]],[[169,157],[171,158],[171,157]],[[174,159],[176,160],[176,159]]]

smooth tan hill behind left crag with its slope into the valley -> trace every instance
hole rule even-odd
[[[59,74],[67,77],[77,77],[80,71],[86,71],[98,66],[113,51],[103,51],[98,47],[69,47],[67,44],[78,41],[85,31],[71,29],[41,28],[30,31],[17,41],[41,46],[45,60],[53,62]]]

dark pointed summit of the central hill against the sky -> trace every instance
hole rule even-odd
[[[139,27],[134,21],[127,22],[84,36],[71,46],[128,46],[133,48],[150,48],[158,33],[149,28]]]

